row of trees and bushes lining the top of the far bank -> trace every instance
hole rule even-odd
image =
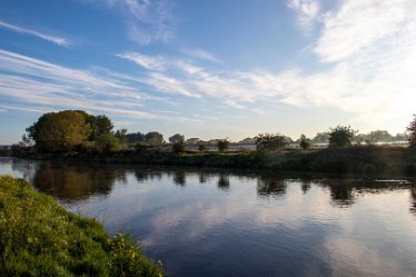
[[[158,131],[127,132],[127,129],[113,130],[113,123],[105,115],[93,116],[82,110],[63,110],[47,112],[33,125],[26,129],[21,145],[28,146],[34,142],[37,151],[117,151],[135,147],[146,149],[166,145],[164,135]],[[256,145],[258,150],[278,150],[289,144],[297,144],[303,149],[313,144],[328,144],[329,147],[347,147],[351,144],[375,144],[378,141],[407,140],[412,149],[416,148],[416,115],[407,128],[408,133],[392,136],[387,131],[377,130],[368,133],[358,133],[349,126],[337,126],[328,131],[318,132],[314,138],[301,135],[299,139],[281,133],[259,133],[254,138],[246,138],[239,144]],[[168,138],[171,150],[181,152],[186,145],[197,146],[204,151],[207,146],[216,146],[219,151],[228,149],[230,141],[226,139],[212,139],[202,141],[199,138],[185,139],[184,135],[175,133]]]

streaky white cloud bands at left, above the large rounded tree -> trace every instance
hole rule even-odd
[[[141,92],[138,85],[0,50],[0,96],[9,102],[155,118],[142,106],[158,99]]]

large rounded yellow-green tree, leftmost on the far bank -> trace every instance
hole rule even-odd
[[[53,152],[72,150],[88,140],[91,127],[85,111],[65,110],[44,113],[27,131],[40,151]]]

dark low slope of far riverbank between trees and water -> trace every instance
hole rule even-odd
[[[416,155],[403,147],[354,146],[313,150],[24,154],[20,158],[66,162],[130,164],[196,168],[265,169],[355,175],[416,175]]]

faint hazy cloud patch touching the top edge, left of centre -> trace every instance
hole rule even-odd
[[[107,7],[126,16],[130,39],[139,44],[168,42],[175,38],[177,19],[170,0],[103,0]],[[102,2],[102,1],[98,1]]]

